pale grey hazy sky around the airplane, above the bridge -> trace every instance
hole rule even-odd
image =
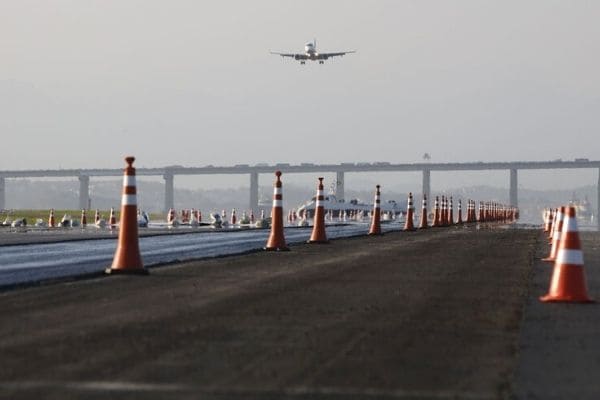
[[[598,1],[0,0],[0,170],[599,159],[598,21]],[[269,54],[315,37],[358,52]]]

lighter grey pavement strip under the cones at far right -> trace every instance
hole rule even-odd
[[[589,293],[600,300],[600,234],[580,234]],[[542,303],[552,264],[536,250],[515,376],[518,399],[600,399],[600,304]]]

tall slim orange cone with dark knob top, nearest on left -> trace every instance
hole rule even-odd
[[[121,220],[119,223],[119,243],[112,266],[107,274],[147,274],[142,263],[138,239],[137,189],[135,182],[134,157],[126,157],[127,167],[123,176],[123,196],[121,199]]]

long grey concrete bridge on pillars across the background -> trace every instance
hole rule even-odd
[[[165,180],[165,210],[173,207],[174,178],[176,175],[248,175],[250,177],[249,208],[258,210],[258,177],[259,174],[272,174],[281,170],[290,173],[323,173],[335,172],[338,198],[344,198],[344,174],[350,172],[421,172],[423,175],[422,193],[431,197],[431,172],[435,171],[484,171],[505,170],[509,175],[510,205],[518,206],[518,171],[550,170],[550,169],[598,169],[598,197],[595,215],[600,216],[600,161],[578,159],[575,161],[516,161],[516,162],[467,162],[467,163],[415,163],[392,164],[379,163],[342,163],[342,164],[309,164],[300,165],[236,165],[232,167],[181,167],[168,166],[162,168],[137,168],[138,176],[162,176]],[[79,179],[79,207],[87,208],[89,202],[89,184],[93,177],[122,176],[122,169],[58,169],[58,170],[16,170],[0,171],[0,209],[5,207],[6,179],[11,178],[54,178],[76,177]],[[597,219],[600,226],[600,219]]]

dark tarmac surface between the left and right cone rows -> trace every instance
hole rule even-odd
[[[571,367],[592,395],[575,370],[600,353],[569,354],[597,349],[597,306],[531,300],[545,251],[535,230],[443,228],[4,291],[0,398],[550,398]]]

